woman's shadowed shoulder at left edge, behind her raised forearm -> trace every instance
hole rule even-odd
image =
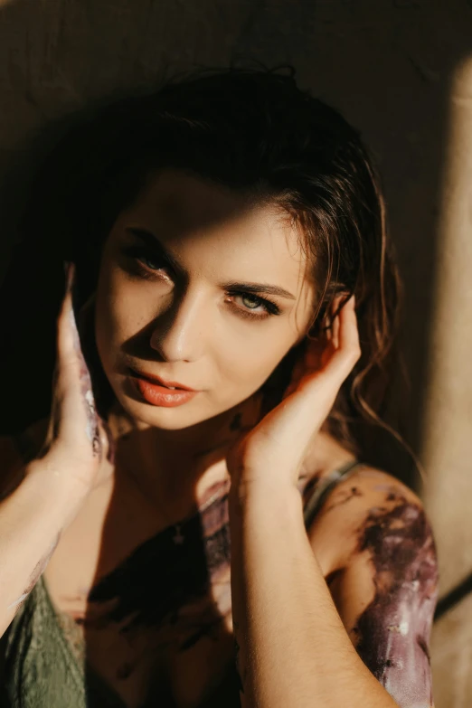
[[[0,499],[8,496],[22,481],[24,466],[42,448],[48,420],[35,421],[14,435],[0,435]]]

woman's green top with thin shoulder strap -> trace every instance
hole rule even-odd
[[[326,496],[358,464],[351,462],[316,485],[304,510],[307,526]],[[0,640],[0,647],[4,659],[1,708],[127,708],[99,675],[89,666],[80,665],[62,632],[43,578],[18,610]],[[233,696],[234,701],[229,696]],[[222,705],[225,708],[240,706],[238,678],[232,666],[226,680],[202,708],[221,708]],[[159,708],[155,700],[152,706]],[[141,708],[151,708],[151,702]]]

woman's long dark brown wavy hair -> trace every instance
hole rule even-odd
[[[362,356],[326,428],[363,452],[363,433],[372,424],[388,428],[382,415],[396,359],[399,277],[379,179],[359,132],[300,90],[292,71],[180,76],[156,90],[110,100],[72,121],[57,139],[31,182],[21,238],[1,288],[2,358],[9,373],[5,428],[19,430],[49,412],[61,262],[77,265],[76,307],[85,311],[118,213],[150,173],[165,168],[278,204],[289,214],[316,284],[309,336],[326,325],[336,294],[355,295]],[[84,325],[82,345],[106,415],[112,392],[86,330]],[[297,347],[264,384],[269,406],[280,399],[296,356]]]

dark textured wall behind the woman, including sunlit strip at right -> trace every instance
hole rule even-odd
[[[470,209],[463,208],[458,222],[443,218],[444,194],[456,184],[466,139],[465,133],[454,138],[451,161],[451,76],[471,52],[470,0],[0,0],[4,264],[22,196],[21,186],[12,189],[11,175],[31,159],[28,138],[110,92],[151,84],[165,69],[238,59],[290,62],[301,85],[363,130],[381,167],[405,281],[404,346],[412,381],[405,432],[427,463],[425,499],[437,529],[444,589],[472,570],[472,341],[466,336],[472,312],[463,307],[471,297]],[[464,175],[461,180],[464,185]],[[459,201],[468,204],[461,189]],[[457,228],[462,241],[448,241]],[[461,285],[451,289],[456,261]],[[405,476],[398,468],[405,458],[389,454],[385,465]],[[470,662],[464,654],[458,662],[452,648],[445,649],[467,623],[466,604],[460,621],[449,617],[439,627],[437,708],[472,700],[467,684],[451,673],[459,663],[471,674]]]

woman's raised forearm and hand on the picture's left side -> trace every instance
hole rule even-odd
[[[0,635],[44,571],[61,531],[110,474],[109,439],[95,410],[72,307],[74,269],[57,323],[52,411],[38,453],[24,465],[0,440]]]

